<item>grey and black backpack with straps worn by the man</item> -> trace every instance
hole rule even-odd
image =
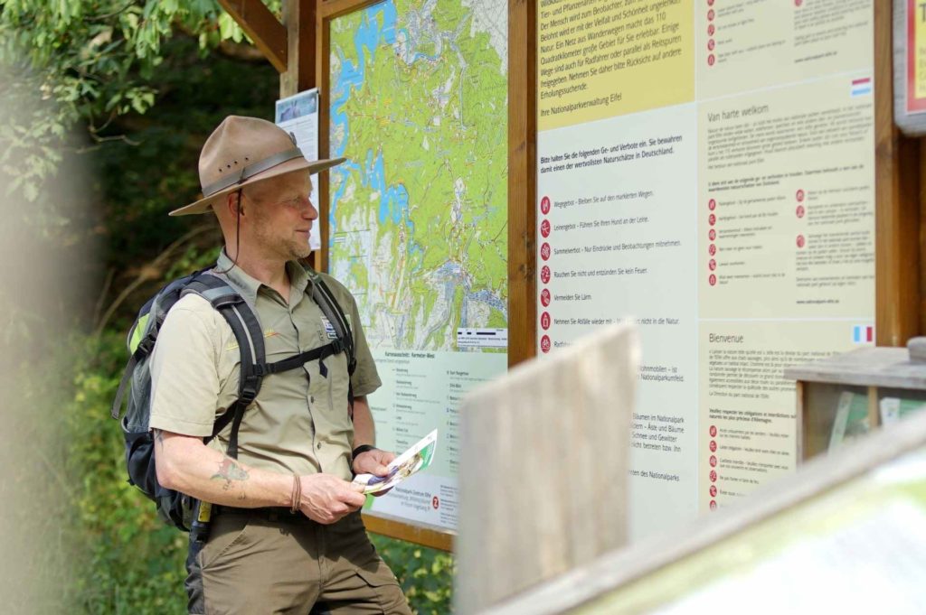
[[[172,489],[166,489],[157,483],[154,437],[148,428],[151,415],[149,360],[151,352],[155,349],[157,333],[170,308],[180,301],[181,297],[195,293],[209,301],[232,327],[232,332],[241,350],[238,399],[216,419],[212,435],[203,438],[203,441],[208,443],[231,423],[232,433],[229,437],[227,454],[232,459],[236,459],[238,429],[244,419],[244,411],[257,398],[265,375],[279,374],[302,367],[305,363],[319,361],[321,375],[327,376],[328,370],[323,363],[324,360],[341,352],[346,353],[348,375],[353,375],[357,367],[357,359],[354,356],[354,338],[341,306],[338,305],[321,277],[309,268],[306,271],[312,280],[312,299],[318,303],[322,314],[325,314],[332,323],[335,338],[329,344],[311,351],[300,352],[276,363],[265,361],[264,334],[257,321],[257,314],[254,314],[244,298],[232,288],[228,281],[208,270],[197,271],[189,276],[173,280],[146,301],[139,311],[129,331],[127,345],[131,357],[126,363],[119,382],[111,414],[114,419],[119,420],[122,400],[128,390],[126,413],[121,424],[125,437],[125,461],[129,483],[137,486],[147,498],[155,501],[157,514],[165,523],[182,531],[189,531],[197,504],[194,498]],[[353,418],[353,398],[353,387],[348,385],[348,409],[351,418]]]

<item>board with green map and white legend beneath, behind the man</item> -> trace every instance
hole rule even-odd
[[[329,269],[383,386],[377,444],[438,429],[432,466],[367,510],[457,526],[457,406],[507,370],[507,3],[383,2],[330,27]]]

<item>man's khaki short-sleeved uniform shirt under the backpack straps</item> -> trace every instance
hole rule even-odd
[[[222,252],[220,271],[232,265]],[[227,277],[264,329],[267,363],[287,359],[332,341],[327,319],[312,300],[312,283],[297,263],[287,263],[290,297],[233,268]],[[354,395],[367,395],[382,384],[369,353],[357,301],[332,277],[325,276],[354,336],[357,370]],[[190,294],[170,309],[151,358],[151,423],[185,436],[212,434],[215,420],[238,399],[241,353],[232,327],[208,301]],[[354,425],[347,405],[346,354],[306,363],[281,374],[264,376],[260,393],[244,413],[238,432],[238,459],[252,467],[280,473],[334,474],[351,477]],[[209,443],[225,451],[231,424]]]

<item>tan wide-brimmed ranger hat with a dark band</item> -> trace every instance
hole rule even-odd
[[[219,199],[244,186],[304,169],[314,175],[343,162],[344,158],[309,162],[292,133],[266,119],[229,116],[209,135],[199,154],[203,198],[170,215],[205,214]]]

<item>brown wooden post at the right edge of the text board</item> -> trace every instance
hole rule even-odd
[[[879,346],[904,346],[920,326],[919,152],[894,124],[892,3],[874,8],[875,333]]]

